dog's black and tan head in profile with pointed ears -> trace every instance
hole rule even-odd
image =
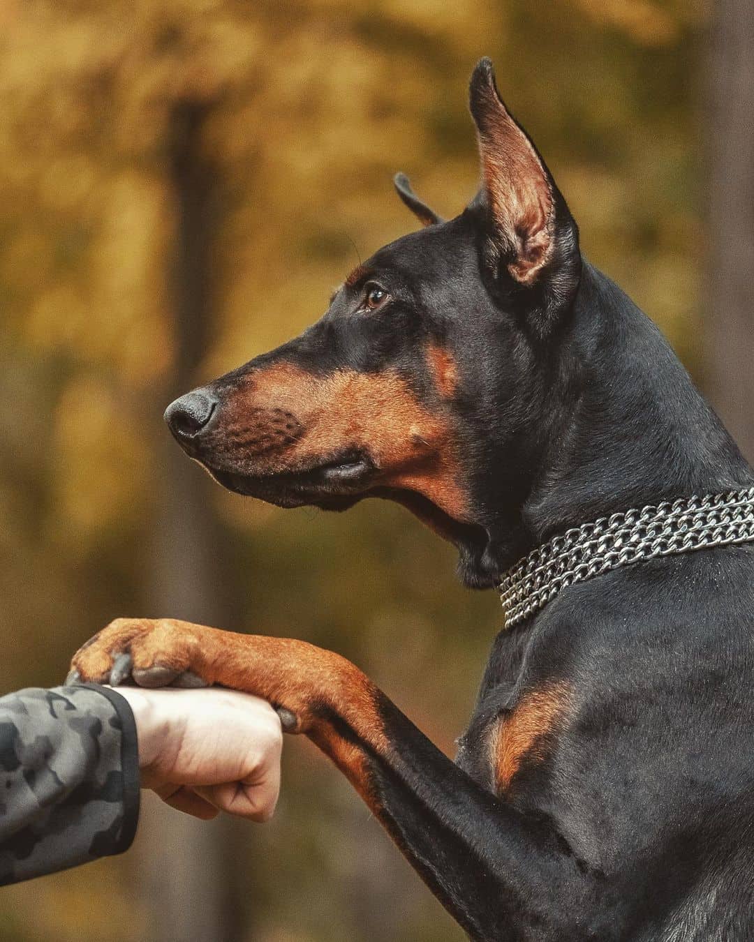
[[[455,219],[396,187],[424,223],[354,268],[299,337],[177,399],[166,420],[239,494],[343,510],[404,504],[491,585],[541,430],[550,339],[579,282],[578,233],[489,60],[470,106],[483,183]]]

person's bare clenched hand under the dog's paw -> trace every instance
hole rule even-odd
[[[142,788],[195,818],[272,817],[283,733],[266,701],[218,688],[117,692],[134,713]]]

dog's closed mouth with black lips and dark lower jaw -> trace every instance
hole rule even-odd
[[[345,510],[366,496],[369,485],[377,476],[375,464],[361,450],[349,450],[327,461],[295,470],[261,475],[195,460],[228,491],[286,508],[313,506],[323,510]]]

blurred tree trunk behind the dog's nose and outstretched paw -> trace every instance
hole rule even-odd
[[[207,106],[184,102],[172,116],[175,366],[170,388],[159,390],[152,404],[157,479],[149,608],[156,615],[231,626],[234,611],[228,599],[235,596],[227,585],[225,541],[208,493],[212,482],[159,421],[167,403],[196,384],[213,320],[212,244],[220,199],[218,174],[201,152],[206,113]],[[196,820],[155,800],[144,803],[140,828],[149,835],[140,876],[153,920],[150,937],[158,942],[249,938],[239,924],[238,825]]]

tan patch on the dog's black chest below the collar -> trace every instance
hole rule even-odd
[[[525,693],[516,707],[500,718],[490,739],[495,785],[504,791],[524,758],[544,758],[543,739],[562,722],[570,705],[567,684],[552,683]]]

